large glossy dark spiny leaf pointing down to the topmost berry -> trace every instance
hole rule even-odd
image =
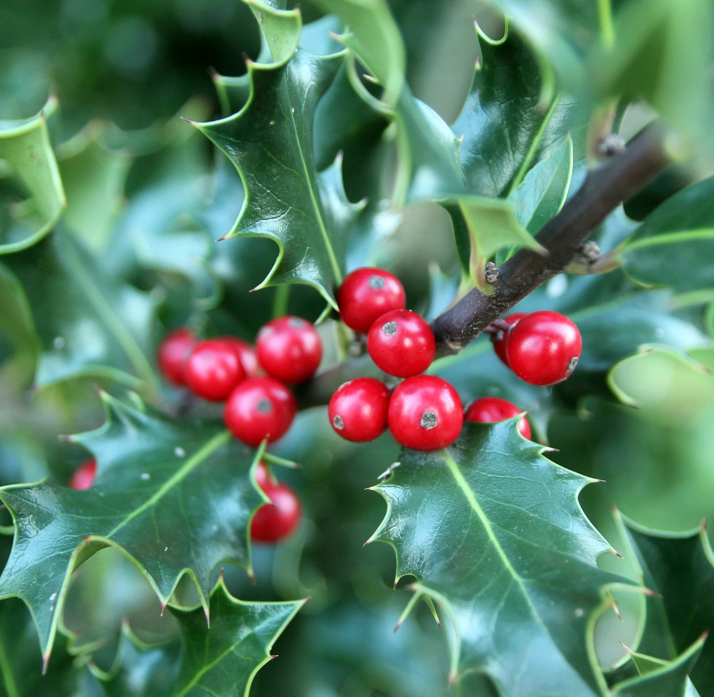
[[[342,61],[342,54],[298,50],[284,64],[251,64],[246,106],[226,119],[196,124],[233,161],[246,189],[227,236],[263,236],[280,248],[262,286],[308,284],[331,304],[343,276],[346,229],[358,206],[347,201],[341,177],[318,177],[312,125]]]

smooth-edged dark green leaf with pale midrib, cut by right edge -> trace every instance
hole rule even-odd
[[[617,259],[631,279],[678,293],[714,289],[714,177],[658,206],[625,242]]]

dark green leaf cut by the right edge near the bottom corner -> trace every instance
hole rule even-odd
[[[620,531],[633,552],[648,598],[643,641],[638,651],[673,660],[688,651],[714,622],[714,554],[704,526],[687,533],[654,531],[618,516]],[[714,688],[714,644],[704,643],[689,671],[702,695]]]

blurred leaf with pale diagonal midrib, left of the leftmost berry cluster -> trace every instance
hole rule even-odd
[[[24,289],[20,302],[29,305],[39,336],[38,386],[93,376],[156,390],[148,294],[102,274],[61,229],[5,261]]]

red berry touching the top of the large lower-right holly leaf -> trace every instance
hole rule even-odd
[[[389,401],[389,430],[413,450],[439,450],[456,441],[463,406],[456,390],[435,375],[417,375],[396,386]]]

